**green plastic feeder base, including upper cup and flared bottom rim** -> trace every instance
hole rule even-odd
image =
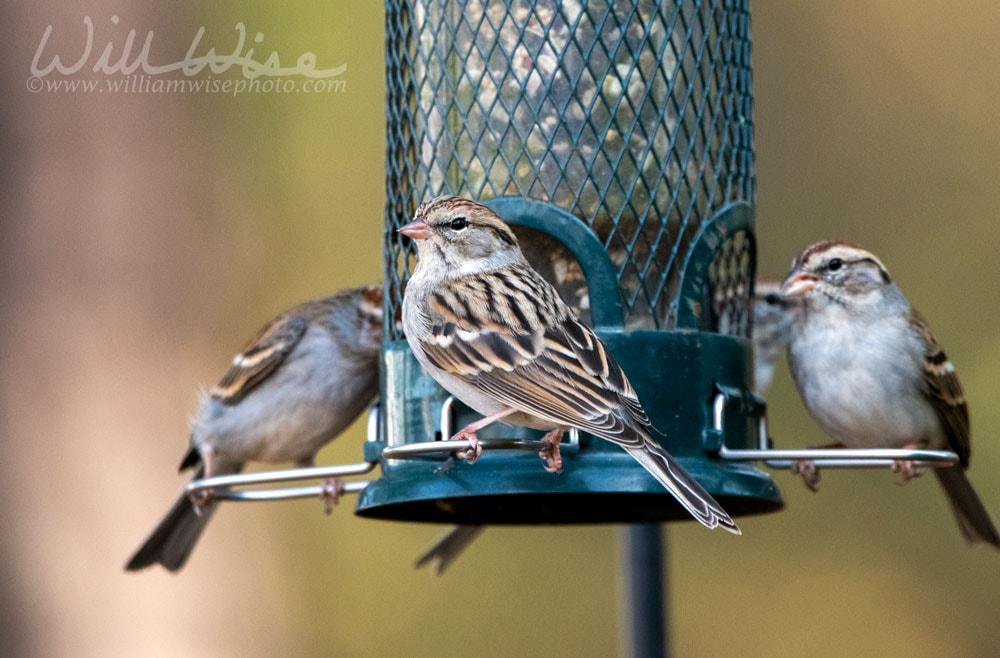
[[[600,332],[639,392],[657,436],[680,464],[733,516],[782,508],[771,477],[750,464],[710,458],[718,440],[710,426],[716,385],[745,374],[745,341],[700,332]],[[650,368],[648,364],[656,364]],[[440,439],[448,394],[424,374],[405,343],[386,351],[392,382],[383,407],[387,445]],[[739,413],[737,413],[739,412]],[[453,427],[479,416],[456,405]],[[750,414],[734,410],[727,445],[746,445],[756,430]],[[538,439],[541,432],[494,424],[480,438]],[[450,437],[444,437],[450,438]],[[361,516],[448,523],[641,523],[690,519],[690,514],[625,451],[583,435],[575,454],[563,453],[563,472],[547,473],[533,453],[487,451],[475,464],[451,456],[383,460],[383,475],[360,495]]]

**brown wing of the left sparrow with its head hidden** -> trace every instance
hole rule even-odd
[[[242,400],[261,383],[302,339],[309,322],[300,315],[279,315],[264,326],[233,358],[228,372],[210,394],[225,405]]]

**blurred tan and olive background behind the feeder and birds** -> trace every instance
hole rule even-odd
[[[960,372],[970,477],[996,517],[1000,6],[751,10],[760,270],[783,275],[822,238],[881,256]],[[493,528],[436,578],[412,562],[438,527],[357,519],[351,502],[331,517],[318,501],[226,505],[180,574],[122,571],[186,481],[199,386],[283,308],[381,276],[382,8],[0,15],[0,653],[613,655],[613,527]],[[84,16],[91,62],[129,29],[136,52],[154,31],[154,63],[200,26],[201,52],[231,52],[242,21],[261,60],[346,63],[346,91],[29,93],[46,26],[42,63],[75,62]],[[825,442],[787,372],[770,417],[781,446]],[[320,463],[356,461],[363,431]],[[669,528],[678,655],[996,655],[1000,556],[966,547],[932,478],[831,471],[812,494],[775,477],[787,509],[743,519],[742,538]]]

